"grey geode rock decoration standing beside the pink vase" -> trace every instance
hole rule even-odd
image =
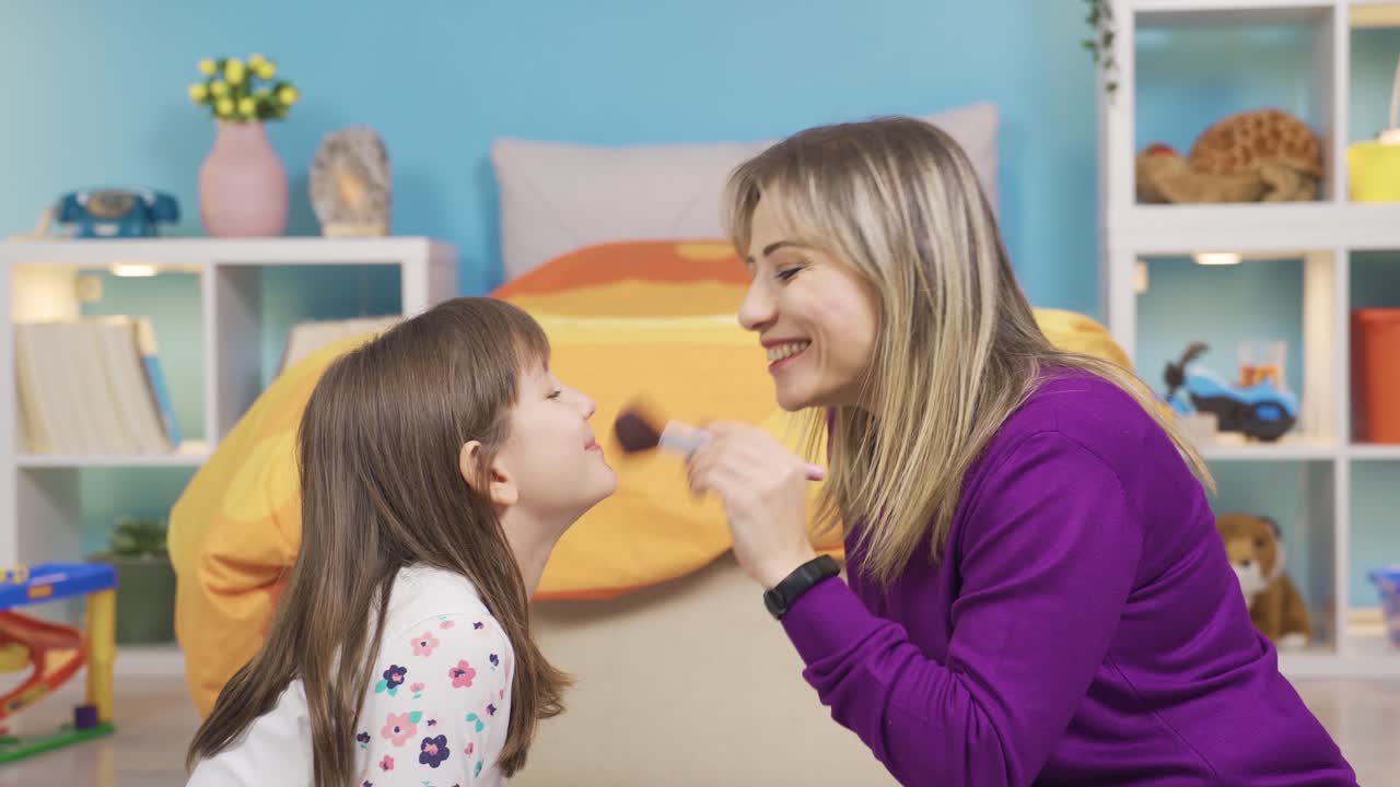
[[[311,206],[326,237],[388,235],[389,153],[372,129],[326,134],[311,162]]]

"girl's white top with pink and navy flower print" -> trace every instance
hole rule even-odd
[[[503,784],[496,760],[510,724],[514,664],[505,632],[469,580],[423,566],[402,570],[360,706],[354,784]],[[311,784],[311,716],[300,681],[190,774],[189,787],[216,784]]]

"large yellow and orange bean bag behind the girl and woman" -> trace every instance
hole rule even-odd
[[[536,598],[609,598],[729,549],[722,508],[690,497],[680,462],[622,452],[610,424],[633,399],[690,422],[757,423],[798,450],[799,427],[773,399],[763,350],[734,318],[746,286],[727,244],[637,242],[580,249],[496,293],[539,319],[556,374],[598,402],[594,424],[619,475],[617,493],[560,541]],[[1054,309],[1036,316],[1056,344],[1127,364],[1092,319]],[[273,381],[175,503],[176,634],[200,713],[256,653],[297,555],[301,410],[325,367],[365,339],[323,347]],[[813,497],[818,490],[811,486]]]

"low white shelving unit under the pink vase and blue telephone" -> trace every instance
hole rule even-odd
[[[20,451],[14,323],[78,314],[83,272],[154,265],[200,281],[206,438],[165,455],[29,455]],[[196,468],[262,389],[260,274],[276,266],[398,266],[402,308],[414,315],[456,294],[456,249],[417,237],[53,239],[0,244],[0,566],[81,560],[78,472],[85,468]],[[165,374],[171,361],[161,358]],[[38,612],[38,609],[36,609]],[[182,669],[175,647],[120,648],[127,675]]]

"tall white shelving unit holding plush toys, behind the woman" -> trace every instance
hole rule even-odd
[[[1373,609],[1348,604],[1351,465],[1400,461],[1400,445],[1351,441],[1351,253],[1400,251],[1400,203],[1347,197],[1351,31],[1400,27],[1400,1],[1375,0],[1112,0],[1117,91],[1100,76],[1100,298],[1113,337],[1137,361],[1135,266],[1149,256],[1236,252],[1243,265],[1303,260],[1303,408],[1292,434],[1274,444],[1203,445],[1208,461],[1302,462],[1306,515],[1288,553],[1323,574],[1303,588],[1316,625],[1330,636],[1305,651],[1284,651],[1291,678],[1400,678],[1400,648],[1385,637]],[[1322,118],[1326,181],[1312,203],[1138,204],[1134,157],[1151,140],[1134,123],[1135,41],[1144,28],[1221,24],[1305,24],[1313,36],[1312,115]],[[1151,76],[1148,76],[1151,78]],[[1239,106],[1239,111],[1254,106]],[[1204,129],[1204,126],[1203,126]],[[1253,258],[1253,259],[1252,259]],[[1183,265],[1193,265],[1183,262]]]

